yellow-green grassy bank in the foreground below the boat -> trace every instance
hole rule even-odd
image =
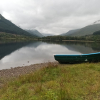
[[[19,76],[0,89],[0,100],[99,100],[100,63],[54,65]]]

